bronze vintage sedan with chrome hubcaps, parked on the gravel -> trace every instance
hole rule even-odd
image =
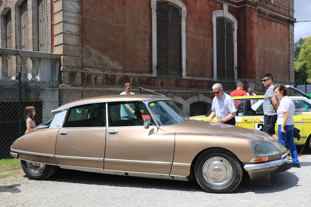
[[[121,108],[132,107],[124,119]],[[52,111],[46,123],[11,146],[25,174],[46,179],[57,168],[105,174],[193,180],[227,193],[241,182],[290,169],[289,152],[258,130],[189,120],[159,95],[86,98]]]

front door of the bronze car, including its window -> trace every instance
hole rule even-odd
[[[139,173],[170,174],[174,154],[174,133],[151,125],[144,129],[143,118],[149,113],[143,103],[134,105],[135,117],[122,120],[120,109],[126,103],[109,103],[104,169]],[[150,117],[150,116],[149,116]]]

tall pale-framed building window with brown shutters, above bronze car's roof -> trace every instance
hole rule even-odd
[[[151,0],[153,75],[186,77],[186,5]]]

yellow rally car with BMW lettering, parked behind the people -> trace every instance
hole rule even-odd
[[[257,129],[263,128],[263,96],[235,96],[234,99],[237,115],[236,125]],[[309,144],[311,147],[311,100],[302,96],[290,96],[295,104],[294,127],[300,130],[300,139],[294,138],[296,145]],[[211,111],[207,115],[190,117],[192,120],[207,121]],[[217,122],[215,117],[212,122]],[[277,135],[276,125],[276,135]]]

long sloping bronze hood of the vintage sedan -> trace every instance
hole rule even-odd
[[[177,124],[161,126],[160,129],[171,133],[207,134],[213,136],[239,137],[274,141],[268,134],[254,129],[246,129],[223,123],[209,121],[188,120]]]

